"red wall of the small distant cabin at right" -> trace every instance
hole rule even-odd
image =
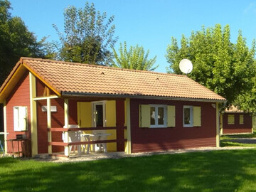
[[[228,124],[228,114],[235,115],[235,124]],[[243,114],[244,124],[239,124],[239,115]],[[223,134],[251,133],[252,116],[246,113],[225,113],[223,114]]]

